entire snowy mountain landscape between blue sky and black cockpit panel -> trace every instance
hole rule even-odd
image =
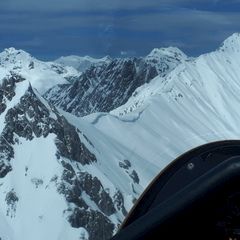
[[[240,35],[214,52],[0,53],[0,238],[104,240],[153,177],[200,144],[239,139]]]

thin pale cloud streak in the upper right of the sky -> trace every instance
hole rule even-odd
[[[226,28],[236,26],[239,20],[240,15],[238,13],[215,13],[185,9],[172,12],[126,16],[119,18],[115,22],[115,26],[138,31],[177,32],[181,30]]]

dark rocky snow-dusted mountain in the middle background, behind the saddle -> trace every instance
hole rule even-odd
[[[77,116],[109,112],[125,104],[138,87],[187,60],[177,48],[154,49],[145,58],[114,59],[92,66],[74,83],[53,87],[45,98]]]

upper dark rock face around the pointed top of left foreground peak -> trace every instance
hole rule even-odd
[[[24,81],[23,78],[12,75],[9,79],[4,79],[1,86],[4,97],[11,100],[15,95],[15,86],[18,82]],[[2,101],[4,104],[4,101]],[[6,107],[4,107],[6,109]],[[17,137],[23,137],[31,140],[34,137],[47,137],[48,134],[56,134],[56,145],[59,154],[62,157],[73,159],[82,164],[88,164],[96,161],[86,147],[81,143],[76,129],[70,125],[66,119],[55,113],[55,118],[50,116],[51,111],[36,97],[31,86],[27,92],[20,98],[20,102],[13,108],[10,108],[6,115],[6,125],[0,136],[1,153],[8,152],[7,160],[14,157],[10,144],[17,141]],[[5,172],[1,168],[0,172]],[[8,168],[10,170],[10,168]],[[4,175],[4,174],[3,174]]]

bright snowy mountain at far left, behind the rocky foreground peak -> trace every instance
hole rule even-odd
[[[57,84],[68,83],[80,76],[74,68],[39,61],[27,52],[15,48],[5,49],[0,53],[0,77],[3,78],[10,71],[28,78],[41,94]]]

